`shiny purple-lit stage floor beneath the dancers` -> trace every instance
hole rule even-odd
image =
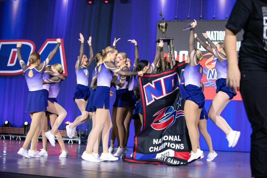
[[[81,158],[85,144],[67,144],[69,158],[58,158],[60,146],[52,147],[48,142],[48,157],[22,158],[17,154],[24,141],[0,139],[0,177],[251,177],[248,152],[222,152],[207,162],[208,151],[204,151],[205,159],[185,166],[165,166],[151,164],[114,162],[90,163]],[[42,142],[38,142],[38,149]],[[126,153],[130,157],[132,148]]]

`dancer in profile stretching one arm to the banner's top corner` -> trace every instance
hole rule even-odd
[[[108,141],[109,141],[109,131],[112,127],[111,117],[109,113],[109,93],[110,93],[110,83],[113,77],[113,73],[117,73],[123,76],[130,75],[142,75],[143,72],[132,72],[123,71],[118,69],[114,65],[114,60],[117,56],[117,50],[114,47],[107,47],[102,50],[102,55],[104,56],[104,62],[97,67],[96,75],[94,76],[91,83],[96,83],[97,88],[95,96],[93,99],[93,107],[96,107],[96,126],[91,130],[90,139],[88,143],[88,150],[86,150],[83,159],[91,162],[100,162],[101,160],[117,160],[109,153]],[[102,132],[102,143],[103,143],[103,153],[100,159],[97,159],[93,155],[93,147],[99,134]]]

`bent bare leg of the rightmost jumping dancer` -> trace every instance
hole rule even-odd
[[[209,118],[226,134],[230,134],[231,127],[227,122],[220,116],[220,113],[225,108],[226,104],[229,102],[229,96],[219,91],[214,97],[212,104],[209,108],[208,116]],[[228,102],[227,102],[228,101]],[[217,115],[219,113],[219,116]],[[232,129],[231,129],[232,130]]]

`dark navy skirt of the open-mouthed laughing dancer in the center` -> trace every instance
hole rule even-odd
[[[130,106],[131,108],[134,108],[134,91],[130,92],[128,89],[119,89],[116,90],[116,99],[113,104],[113,107],[124,107],[124,106]]]

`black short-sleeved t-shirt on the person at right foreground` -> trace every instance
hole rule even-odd
[[[237,0],[226,28],[244,29],[239,49],[239,68],[267,70],[267,0]]]

